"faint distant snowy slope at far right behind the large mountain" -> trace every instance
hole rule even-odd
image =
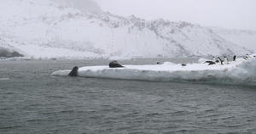
[[[227,30],[220,27],[209,27],[218,34],[230,42],[234,42],[240,46],[244,46],[253,50],[256,53],[256,31],[247,30]]]

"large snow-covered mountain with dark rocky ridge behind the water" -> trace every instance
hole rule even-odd
[[[208,28],[187,22],[148,21],[135,16],[125,18],[84,11],[86,8],[78,8],[77,4],[66,3],[65,0],[1,0],[0,3],[1,40],[15,47],[19,53],[35,58],[145,58],[251,53]]]

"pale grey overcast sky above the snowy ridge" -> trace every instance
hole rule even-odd
[[[96,0],[103,11],[256,31],[256,0]]]

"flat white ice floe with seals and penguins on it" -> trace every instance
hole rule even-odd
[[[200,59],[201,60],[201,59]],[[229,64],[194,63],[148,65],[124,65],[125,68],[85,66],[79,68],[79,76],[140,81],[211,81],[220,83],[255,83],[256,59],[237,59]],[[58,70],[52,75],[68,75],[71,70]]]

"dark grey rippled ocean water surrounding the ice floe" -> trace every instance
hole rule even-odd
[[[51,75],[108,63],[0,61],[0,133],[256,133],[253,86]]]

